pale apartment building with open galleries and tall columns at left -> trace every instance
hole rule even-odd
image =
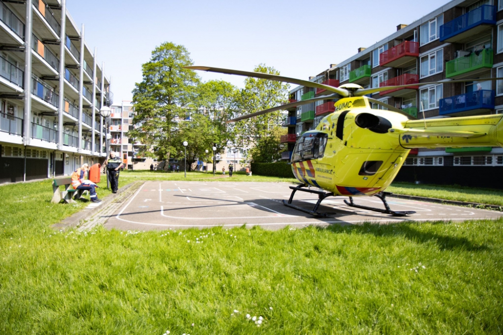
[[[0,183],[104,159],[110,80],[65,0],[0,0]]]

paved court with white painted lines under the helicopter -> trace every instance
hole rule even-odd
[[[328,213],[328,217],[318,218],[283,205],[282,200],[290,196],[289,186],[291,184],[266,182],[147,181],[115,213],[107,215],[105,227],[120,230],[163,230],[246,224],[280,229],[288,225],[303,227],[356,224],[363,221],[384,223],[503,216],[503,213],[496,211],[389,197],[391,209],[416,211],[406,217],[394,217],[349,207],[343,202],[343,197],[329,197],[318,209],[319,212]],[[297,192],[294,204],[311,209],[316,200],[316,195]],[[384,208],[381,200],[375,197],[356,197],[355,203]]]

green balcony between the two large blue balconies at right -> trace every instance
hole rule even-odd
[[[452,79],[475,77],[490,68],[492,68],[492,49],[482,49],[446,62],[445,76]]]

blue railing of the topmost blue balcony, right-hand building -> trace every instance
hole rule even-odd
[[[440,26],[440,41],[443,42],[479,25],[496,24],[496,6],[482,5]]]

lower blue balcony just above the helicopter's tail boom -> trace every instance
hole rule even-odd
[[[469,116],[494,109],[494,91],[480,90],[440,99],[439,115]]]

